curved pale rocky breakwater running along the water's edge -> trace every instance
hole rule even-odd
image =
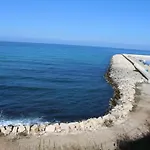
[[[115,91],[112,101],[115,101],[116,104],[107,115],[72,123],[1,126],[1,135],[79,133],[83,131],[100,130],[125,121],[133,108],[136,83],[147,82],[147,80],[134,68],[131,62],[122,55],[114,55],[112,57],[107,76]]]

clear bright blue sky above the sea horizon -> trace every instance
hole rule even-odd
[[[0,0],[0,39],[150,47],[150,0]]]

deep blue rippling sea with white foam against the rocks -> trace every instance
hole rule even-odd
[[[0,42],[0,124],[102,116],[113,95],[104,75],[116,53],[150,51]]]

